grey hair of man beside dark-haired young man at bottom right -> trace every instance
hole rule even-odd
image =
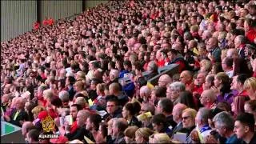
[[[234,118],[226,111],[222,111],[214,116],[214,122],[219,126],[225,127],[227,130],[234,130]]]

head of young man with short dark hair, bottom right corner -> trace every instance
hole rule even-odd
[[[247,134],[254,134],[254,115],[249,113],[239,114],[234,122],[234,133],[238,138],[245,138]]]

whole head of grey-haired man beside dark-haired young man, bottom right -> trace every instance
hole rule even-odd
[[[216,114],[213,122],[218,134],[222,137],[226,137],[226,134],[234,130],[234,118],[226,111]]]

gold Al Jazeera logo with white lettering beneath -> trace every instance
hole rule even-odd
[[[53,132],[54,127],[54,120],[49,115],[42,120],[42,130],[44,130],[44,132]],[[40,134],[39,138],[58,138],[58,134]]]

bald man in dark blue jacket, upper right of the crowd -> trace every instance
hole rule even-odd
[[[221,62],[222,50],[218,47],[217,38],[210,38],[209,41],[206,42],[206,50],[210,52],[208,57],[212,62]]]

